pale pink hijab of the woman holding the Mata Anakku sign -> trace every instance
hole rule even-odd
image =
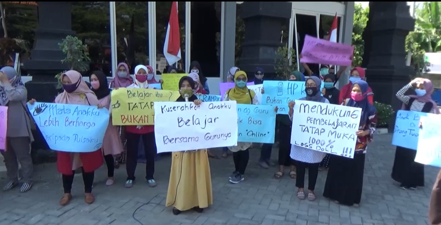
[[[67,93],[63,91],[63,93],[59,94],[55,98],[55,103],[62,104],[75,104],[75,105],[98,105],[98,98],[93,93],[92,90],[87,86],[86,82],[82,79],[80,73],[75,70],[69,70],[63,75],[61,75],[61,79],[64,76],[69,77],[72,83],[78,83],[79,85],[77,89],[72,93]]]

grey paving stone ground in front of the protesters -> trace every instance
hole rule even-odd
[[[426,167],[425,187],[399,189],[390,178],[395,153],[391,139],[390,134],[377,135],[369,146],[359,208],[322,197],[326,171],[319,172],[317,200],[298,200],[295,180],[286,174],[274,179],[276,167],[260,168],[259,151],[254,149],[246,180],[235,185],[227,178],[234,168],[232,157],[210,159],[214,203],[201,214],[191,211],[175,216],[171,207],[164,207],[170,157],[156,163],[156,188],[147,186],[144,164],[138,164],[138,182],[131,189],[123,187],[124,166],[116,170],[116,183],[110,187],[104,185],[107,169],[101,167],[95,174],[96,201],[91,205],[83,201],[78,175],[72,189],[74,199],[65,207],[58,204],[63,192],[61,177],[55,164],[49,163],[35,167],[37,182],[30,192],[0,192],[0,225],[428,225],[427,206],[438,169]],[[277,159],[274,149],[273,159]],[[5,182],[1,180],[0,185]]]

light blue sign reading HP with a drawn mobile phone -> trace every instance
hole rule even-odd
[[[324,83],[318,91],[321,92]],[[279,109],[277,114],[288,114],[288,102],[306,97],[305,81],[264,80],[262,105],[273,105]]]

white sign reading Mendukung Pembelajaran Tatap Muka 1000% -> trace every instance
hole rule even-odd
[[[361,109],[295,100],[291,144],[354,158]]]

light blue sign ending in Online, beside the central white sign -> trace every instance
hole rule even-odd
[[[274,143],[275,106],[237,104],[238,142]]]

